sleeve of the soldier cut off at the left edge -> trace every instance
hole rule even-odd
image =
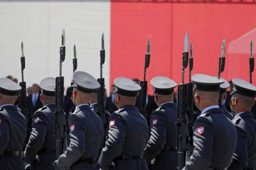
[[[1,114],[1,113],[0,113]],[[1,116],[1,115],[0,115]],[[0,117],[0,153],[3,152],[9,142],[9,124]]]

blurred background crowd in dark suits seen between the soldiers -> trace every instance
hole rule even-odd
[[[8,75],[6,78],[9,78],[11,79],[12,81],[14,81],[15,83],[18,84],[18,80],[16,78],[13,78],[11,75]],[[138,79],[133,79],[134,82],[140,84],[140,81]],[[224,100],[223,104],[225,105],[226,109],[230,112],[231,112],[231,109],[230,109],[230,106],[229,106],[229,102],[231,100],[231,96],[229,95],[230,91],[233,89],[233,84],[232,84],[232,81],[229,82],[230,84],[230,89],[226,91],[226,99]],[[148,90],[152,90],[153,89],[148,89]],[[111,91],[110,91],[110,95],[109,97],[107,97],[107,92],[106,92],[106,89],[105,89],[105,96],[104,96],[104,99],[105,99],[105,109],[109,112],[109,113],[114,113],[115,111],[117,111],[117,107],[115,106],[115,103],[114,103],[114,97],[115,97],[115,94],[114,94],[114,91],[115,91],[115,86],[112,85],[111,86]],[[174,96],[174,103],[177,103],[177,94],[178,92],[175,91],[175,96]],[[40,99],[40,94],[41,94],[41,90],[40,90],[40,87],[38,84],[33,84],[31,87],[27,87],[27,106],[28,106],[28,112],[29,113],[34,113],[35,111],[37,111],[38,109],[42,108],[43,107],[43,104],[41,102],[41,99]],[[67,91],[66,91],[66,96],[64,96],[64,112],[65,113],[69,113],[71,114],[71,96],[72,96],[72,92],[71,92],[71,87],[67,88]],[[20,107],[20,95],[18,95],[18,99],[17,101],[15,102],[15,105],[17,107]],[[138,96],[137,96],[137,100],[136,100],[136,106],[139,105],[139,93],[138,93]],[[158,106],[156,105],[156,103],[154,102],[154,97],[151,96],[151,95],[148,95],[146,96],[146,113],[148,115],[151,115],[155,109],[157,109]],[[199,114],[200,111],[197,109],[196,106],[193,107],[194,109],[194,113],[195,114]],[[233,114],[233,113],[232,113]]]

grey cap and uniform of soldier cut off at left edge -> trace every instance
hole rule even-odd
[[[20,89],[21,87],[10,79],[0,78],[0,94],[16,96]],[[25,116],[13,104],[0,106],[0,169],[25,169],[21,152],[26,137]]]

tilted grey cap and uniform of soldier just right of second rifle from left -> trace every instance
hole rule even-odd
[[[93,93],[100,87],[94,77],[82,71],[75,72],[73,80],[74,88],[84,93]],[[98,170],[98,153],[104,137],[100,118],[88,104],[80,104],[69,117],[68,124],[70,144],[67,151],[54,162],[55,168]]]

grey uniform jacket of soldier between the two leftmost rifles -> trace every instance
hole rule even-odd
[[[53,162],[56,160],[56,143],[53,136],[54,112],[55,104],[48,104],[32,116],[32,132],[24,152],[26,162],[31,165],[30,170],[54,170]]]

